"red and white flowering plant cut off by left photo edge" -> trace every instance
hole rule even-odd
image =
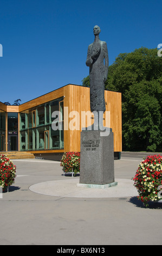
[[[16,166],[5,155],[0,155],[0,186],[5,188],[12,185],[16,177]]]

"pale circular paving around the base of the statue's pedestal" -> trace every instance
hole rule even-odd
[[[70,198],[119,198],[138,196],[133,180],[115,179],[117,186],[107,188],[87,188],[77,186],[79,179],[62,179],[31,185],[29,190],[54,197]]]

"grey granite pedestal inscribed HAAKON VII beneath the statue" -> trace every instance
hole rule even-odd
[[[81,132],[80,186],[105,188],[117,185],[114,182],[113,132],[110,130],[108,136],[101,134],[101,131]],[[89,186],[92,184],[96,186]]]

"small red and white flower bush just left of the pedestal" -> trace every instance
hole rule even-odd
[[[64,173],[80,173],[80,152],[64,153],[60,165]]]

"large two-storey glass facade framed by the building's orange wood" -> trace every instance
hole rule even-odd
[[[60,114],[52,118],[54,111]],[[62,130],[54,131],[52,123]],[[21,151],[63,148],[63,97],[20,112]]]

